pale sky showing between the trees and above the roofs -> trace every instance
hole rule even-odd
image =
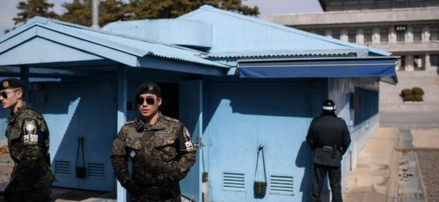
[[[17,16],[16,8],[20,0],[0,0],[0,35],[4,30],[11,29],[14,26],[12,18]],[[63,2],[72,0],[47,0],[54,4],[53,10],[63,13]],[[124,0],[128,1],[128,0]],[[260,11],[259,18],[265,19],[267,15],[281,13],[315,13],[322,12],[318,0],[243,0],[243,4],[248,6],[257,6]]]

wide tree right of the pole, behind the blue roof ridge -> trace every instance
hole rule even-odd
[[[125,17],[127,20],[177,18],[203,5],[243,15],[259,15],[257,6],[250,8],[242,5],[241,0],[130,0],[125,11],[131,15]]]

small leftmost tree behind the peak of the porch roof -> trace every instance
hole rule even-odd
[[[49,11],[53,8],[53,4],[47,3],[46,0],[25,0],[19,1],[18,5],[17,17],[13,18],[15,21],[14,25],[18,25],[20,23],[26,23],[30,18],[34,18],[35,16],[41,16],[44,18],[57,18],[58,15]],[[15,27],[14,27],[15,28]]]

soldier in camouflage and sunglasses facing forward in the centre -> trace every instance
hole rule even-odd
[[[135,94],[141,116],[127,122],[113,142],[111,163],[117,179],[131,201],[181,201],[179,181],[196,159],[189,132],[179,120],[160,114],[157,84],[145,82]]]

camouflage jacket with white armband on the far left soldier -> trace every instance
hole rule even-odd
[[[9,115],[5,134],[15,162],[11,180],[17,183],[16,189],[51,186],[56,177],[50,170],[49,130],[43,116],[23,102]]]

